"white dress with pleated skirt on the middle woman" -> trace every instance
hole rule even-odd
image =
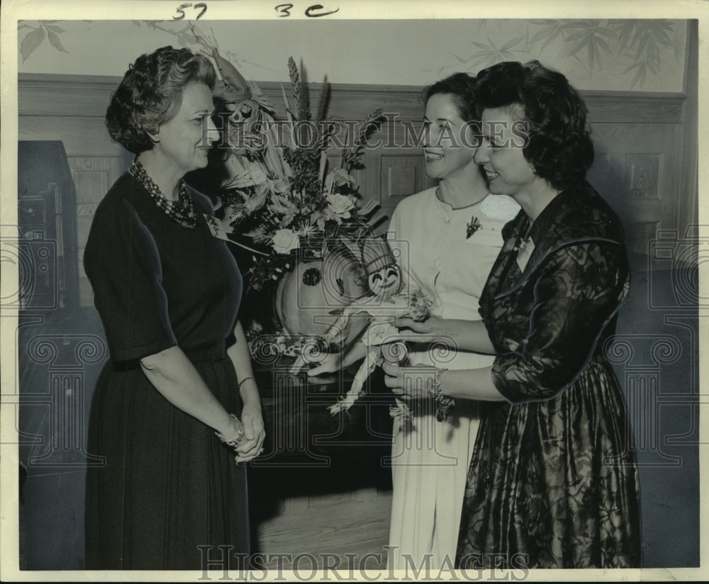
[[[518,210],[512,198],[495,195],[454,209],[437,198],[435,188],[399,203],[391,217],[389,244],[403,282],[420,286],[434,299],[432,315],[480,320],[479,296],[502,247],[502,227]],[[471,233],[469,224],[474,223],[479,228]],[[411,352],[408,360],[446,369],[475,369],[492,362],[489,355],[445,350]],[[428,401],[415,408],[410,422],[398,416],[393,425],[389,565],[403,569],[407,563],[418,567],[430,561],[432,567],[452,566],[479,423],[476,403],[456,400],[452,417],[444,422],[436,420]]]

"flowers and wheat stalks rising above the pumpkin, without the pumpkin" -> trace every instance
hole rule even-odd
[[[374,203],[361,206],[350,173],[362,168],[362,150],[368,135],[379,129],[381,110],[362,120],[359,132],[342,150],[340,166],[330,170],[327,77],[316,117],[311,119],[303,66],[298,69],[290,57],[288,67],[296,103],[291,108],[283,92],[289,135],[277,134],[274,108],[255,84],[251,84],[252,103],[227,103],[233,113],[227,133],[230,155],[225,162],[230,176],[220,192],[223,223],[227,232],[238,228],[260,244],[262,251],[253,257],[249,271],[250,288],[255,291],[292,270],[298,254],[322,257],[323,246],[343,227],[356,230],[368,221],[371,224],[376,208]]]

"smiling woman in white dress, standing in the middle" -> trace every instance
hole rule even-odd
[[[478,300],[502,247],[501,229],[519,206],[491,198],[475,164],[474,77],[457,73],[424,92],[425,172],[438,186],[408,196],[391,217],[388,240],[405,285],[423,288],[439,318],[480,320]],[[342,358],[348,366],[360,355]],[[493,358],[436,347],[411,347],[408,363],[446,369],[490,366]],[[311,369],[316,376],[332,361]],[[438,421],[433,402],[394,419],[389,565],[453,566],[463,495],[478,420],[475,402],[456,403]],[[399,403],[401,406],[401,403]]]

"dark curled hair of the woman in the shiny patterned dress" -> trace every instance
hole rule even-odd
[[[478,107],[520,107],[527,123],[523,153],[554,189],[583,181],[593,164],[586,104],[563,74],[537,60],[507,61],[477,75]]]

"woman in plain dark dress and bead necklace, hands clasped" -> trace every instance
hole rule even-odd
[[[242,281],[208,229],[211,203],[182,180],[218,137],[215,81],[206,57],[163,47],[130,66],[106,111],[136,157],[84,252],[111,352],[89,421],[104,465],[86,479],[88,569],[200,570],[216,546],[236,559],[250,550],[238,462],[259,454],[264,429],[237,320]]]

